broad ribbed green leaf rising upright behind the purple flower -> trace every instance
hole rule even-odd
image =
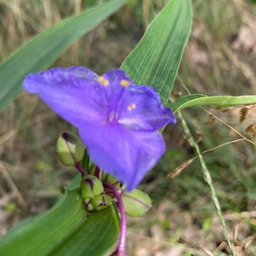
[[[121,66],[134,83],[157,89],[163,103],[169,99],[191,19],[190,0],[171,0]]]

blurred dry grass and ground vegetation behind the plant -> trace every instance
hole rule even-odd
[[[0,0],[0,61],[38,32],[101,2]],[[119,12],[76,41],[54,66],[81,65],[99,74],[118,68],[166,2],[129,0]],[[172,99],[186,95],[187,90],[208,96],[256,94],[255,1],[192,3],[192,34]],[[201,108],[183,110],[182,115],[204,151],[238,139],[233,129],[244,134],[244,128],[255,121],[252,109],[240,125],[239,110],[208,108],[224,123]],[[55,152],[56,140],[64,131],[76,132],[37,96],[22,93],[0,113],[0,236],[21,219],[51,207],[60,188],[76,174],[75,169],[61,165]],[[166,154],[140,186],[150,194],[154,207],[143,218],[128,219],[129,255],[201,255],[193,239],[212,252],[216,250],[216,255],[229,253],[199,161],[166,179],[195,156],[181,121],[167,126],[164,136]],[[255,147],[245,141],[224,145],[204,154],[204,160],[227,221],[227,232],[230,236],[233,230],[238,233],[235,247],[242,255],[240,241],[256,233]],[[192,244],[180,244],[180,237]],[[253,245],[244,255],[255,255]]]

